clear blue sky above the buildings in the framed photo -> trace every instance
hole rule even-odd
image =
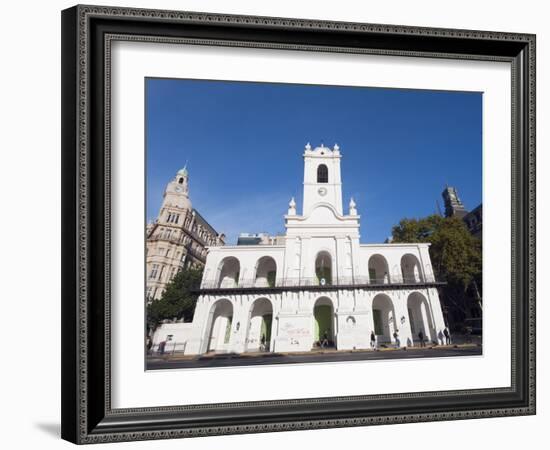
[[[363,243],[443,210],[446,183],[481,203],[481,93],[146,79],[145,123],[147,220],[187,162],[193,206],[229,243],[284,232],[292,196],[300,213],[307,142],[340,146]]]

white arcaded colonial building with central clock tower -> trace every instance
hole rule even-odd
[[[165,324],[186,354],[443,343],[429,244],[360,244],[356,204],[342,207],[339,147],[304,151],[302,213],[268,244],[210,247],[190,324]],[[397,331],[396,342],[394,333]]]

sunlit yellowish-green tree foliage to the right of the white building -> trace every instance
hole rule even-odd
[[[448,288],[465,293],[475,281],[481,286],[481,242],[456,217],[436,215],[403,219],[393,227],[393,242],[429,242],[436,279],[446,280]]]

